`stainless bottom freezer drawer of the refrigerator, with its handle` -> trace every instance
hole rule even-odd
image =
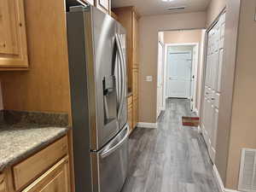
[[[128,169],[129,126],[101,151],[91,153],[93,192],[120,192]]]

